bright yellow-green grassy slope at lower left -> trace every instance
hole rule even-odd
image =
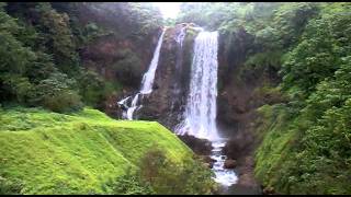
[[[117,121],[99,111],[64,115],[38,108],[0,112],[0,176],[24,194],[102,194],[110,178],[136,170],[158,146],[181,161],[192,151],[155,121]]]

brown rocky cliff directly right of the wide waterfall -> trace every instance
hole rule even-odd
[[[257,108],[275,99],[257,90],[265,83],[276,83],[276,72],[245,73],[242,68],[248,56],[258,50],[254,37],[245,30],[219,38],[219,70],[217,96],[217,123],[220,130],[229,137],[224,153],[236,160],[239,175],[238,186],[260,190],[253,175],[253,154],[260,143],[256,134]]]

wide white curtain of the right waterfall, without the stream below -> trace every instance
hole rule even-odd
[[[217,32],[200,32],[195,38],[190,94],[179,135],[218,139],[216,127]]]

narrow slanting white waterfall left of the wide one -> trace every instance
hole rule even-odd
[[[154,80],[155,80],[155,72],[158,66],[158,59],[160,56],[160,50],[161,50],[161,46],[162,46],[162,40],[163,40],[163,35],[165,35],[166,28],[163,28],[156,49],[154,51],[154,57],[152,60],[150,62],[149,69],[147,70],[147,72],[144,73],[143,76],[143,80],[141,80],[141,89],[140,91],[133,97],[131,106],[128,106],[128,100],[131,99],[131,96],[123,99],[122,101],[117,102],[117,104],[120,106],[122,106],[123,108],[123,118],[125,119],[133,119],[133,114],[135,111],[139,109],[140,107],[143,107],[143,105],[138,105],[138,100],[139,100],[139,95],[141,94],[150,94],[152,92],[152,85],[154,85]]]

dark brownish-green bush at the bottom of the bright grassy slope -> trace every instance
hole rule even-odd
[[[213,172],[200,160],[182,163],[170,160],[163,150],[154,147],[140,162],[140,177],[161,195],[208,195],[215,189]]]

